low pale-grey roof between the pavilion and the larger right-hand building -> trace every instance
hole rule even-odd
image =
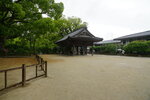
[[[95,46],[100,46],[100,45],[105,45],[105,44],[120,44],[120,40],[105,40],[105,41],[100,41],[100,42],[95,42]]]

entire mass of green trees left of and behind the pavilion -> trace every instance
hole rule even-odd
[[[1,0],[0,54],[50,53],[55,41],[87,26],[80,18],[62,17],[63,10],[54,0]]]

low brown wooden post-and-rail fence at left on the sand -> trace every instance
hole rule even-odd
[[[26,66],[25,64],[22,64],[21,67],[16,67],[16,68],[10,68],[10,69],[5,69],[5,70],[0,70],[0,73],[4,73],[4,87],[0,88],[0,91],[11,88],[11,87],[15,87],[18,85],[22,85],[24,86],[26,84],[27,81],[30,81],[32,79],[38,78],[38,77],[42,77],[45,76],[47,77],[47,61],[44,61],[43,58],[41,58],[40,56],[36,55],[36,60],[37,60],[37,64],[33,64],[33,65],[28,65]],[[26,77],[26,69],[29,67],[35,67],[35,71],[32,73],[35,73],[34,77],[30,77],[27,78]],[[22,73],[22,77],[21,77],[21,81],[18,83],[14,83],[12,85],[8,85],[8,73],[10,71],[15,71],[15,70],[21,70]],[[40,71],[42,71],[43,73],[39,75],[39,69]]]

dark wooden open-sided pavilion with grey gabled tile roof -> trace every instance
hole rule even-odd
[[[93,46],[94,42],[102,40],[91,34],[87,27],[82,27],[58,40],[56,44],[61,47],[61,54],[86,55],[88,46]]]

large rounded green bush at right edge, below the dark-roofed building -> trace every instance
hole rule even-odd
[[[133,41],[124,46],[126,54],[150,54],[150,41]]]

